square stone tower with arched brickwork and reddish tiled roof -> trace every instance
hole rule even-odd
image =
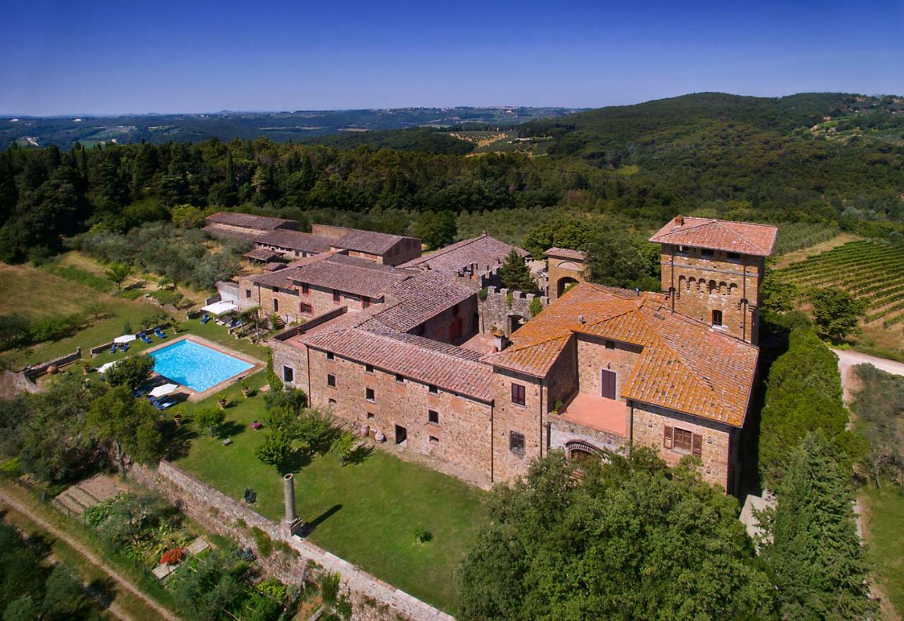
[[[777,227],[676,216],[651,242],[662,246],[662,283],[673,312],[758,341],[760,284]]]

